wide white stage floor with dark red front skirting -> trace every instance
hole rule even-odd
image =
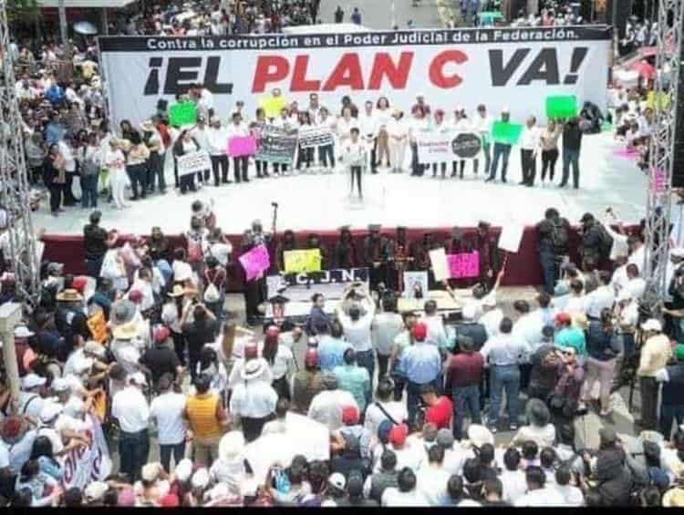
[[[520,153],[513,149],[507,184],[498,180],[485,183],[482,174],[473,177],[470,163],[466,164],[464,180],[449,177],[441,180],[439,174],[433,179],[431,170],[422,178],[410,177],[408,172],[398,175],[380,170],[378,175],[364,177],[364,199],[359,201],[349,198],[347,174],[337,170],[330,174],[252,179],[246,184],[220,188],[207,186],[185,196],[169,189],[166,195],[130,202],[130,208],[122,211],[104,201],[99,202],[98,209],[103,212],[102,226],[118,229],[122,239],[147,235],[152,226],[159,225],[170,236],[172,248],[181,244],[178,236],[189,226],[190,205],[195,199],[214,200],[218,224],[236,250],[241,234],[254,219],[261,219],[264,228],[270,230],[273,201],[279,204],[278,232],[294,230],[300,244],[305,242],[308,232],[319,232],[321,241],[330,250],[342,225],[352,227],[360,250],[368,223],[381,223],[388,236],[394,235],[394,228],[404,225],[409,228],[410,241],[420,239],[426,229],[437,232],[437,241],[446,240],[453,226],[461,227],[468,234],[481,220],[490,221],[493,232],[499,232],[505,224],[522,224],[526,229],[520,251],[510,255],[503,284],[532,285],[541,283],[534,224],[543,218],[546,208],[554,206],[574,226],[584,212],[603,217],[608,206],[628,225],[636,224],[644,215],[647,179],[637,169],[636,160],[617,155],[616,151],[623,149],[624,143],[614,141],[610,133],[603,133],[585,136],[582,145],[581,188],[576,191],[541,186],[539,173],[538,185],[534,188],[518,186]],[[556,165],[555,184],[560,180],[561,165],[561,162]],[[254,170],[250,173],[252,176]],[[167,170],[169,180],[172,185],[172,172]],[[45,202],[34,215],[36,229],[47,230],[44,257],[65,263],[67,272],[83,273],[82,228],[90,210],[67,208],[58,218],[53,218],[47,209]],[[574,259],[577,243],[578,237],[572,232],[570,245]],[[230,273],[232,291],[242,289],[239,275],[236,270]]]

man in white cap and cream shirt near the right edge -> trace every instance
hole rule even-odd
[[[641,324],[644,345],[641,347],[637,377],[641,393],[641,427],[655,430],[658,427],[658,381],[656,372],[668,364],[672,355],[669,338],[662,334],[662,325],[655,318]]]

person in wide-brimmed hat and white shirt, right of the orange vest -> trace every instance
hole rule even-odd
[[[264,359],[253,359],[244,365],[242,381],[233,388],[230,412],[239,417],[245,442],[261,436],[266,421],[275,413],[278,394],[265,382]]]

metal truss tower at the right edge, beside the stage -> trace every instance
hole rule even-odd
[[[669,251],[669,225],[672,205],[672,172],[675,156],[678,102],[681,71],[684,1],[660,0],[658,9],[658,54],[656,68],[669,69],[668,78],[658,73],[655,82],[657,108],[654,137],[651,139],[646,210],[646,306],[655,316],[660,314],[668,288],[666,274]],[[660,100],[662,98],[662,100]],[[667,108],[663,108],[663,104]]]

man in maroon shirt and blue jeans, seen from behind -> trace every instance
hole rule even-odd
[[[463,435],[466,407],[472,424],[482,424],[480,386],[484,359],[477,352],[479,349],[475,347],[475,342],[470,336],[460,336],[458,341],[461,352],[451,356],[446,385],[451,390],[453,399],[453,437],[460,440]]]

